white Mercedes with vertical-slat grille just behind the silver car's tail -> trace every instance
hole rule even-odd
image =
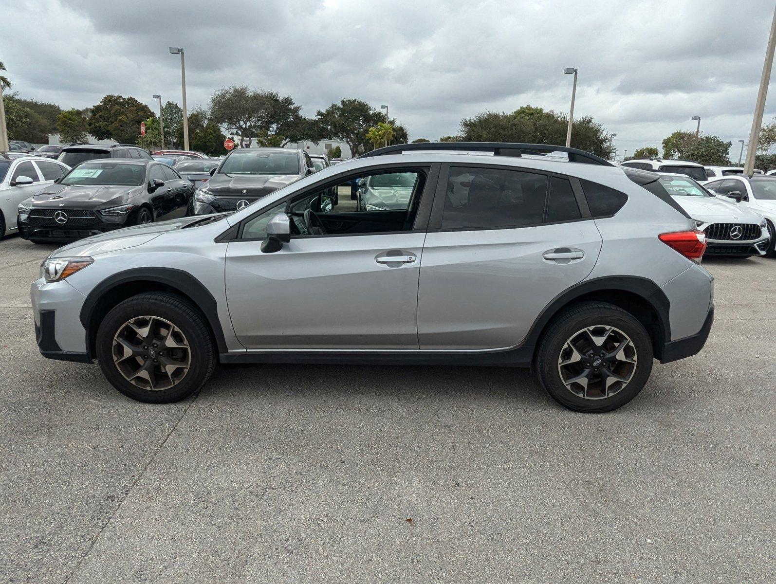
[[[663,175],[660,184],[706,233],[706,255],[765,255],[771,236],[760,213],[712,195],[686,175]]]

